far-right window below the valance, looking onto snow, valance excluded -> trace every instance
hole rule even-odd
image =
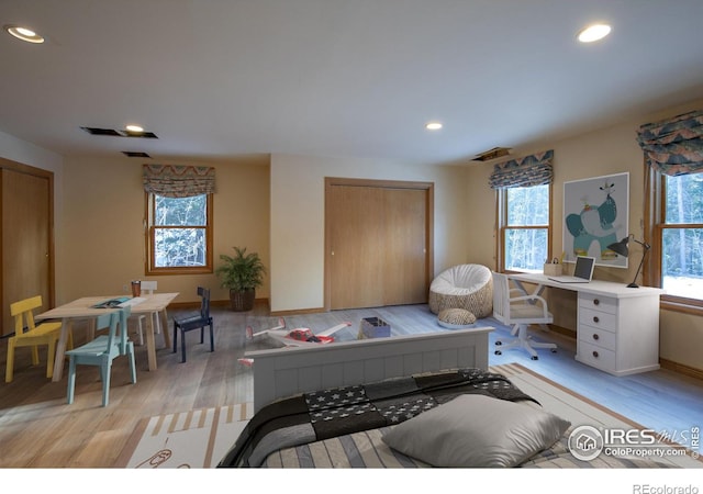
[[[703,173],[649,169],[654,190],[652,280],[665,303],[703,308]]]

